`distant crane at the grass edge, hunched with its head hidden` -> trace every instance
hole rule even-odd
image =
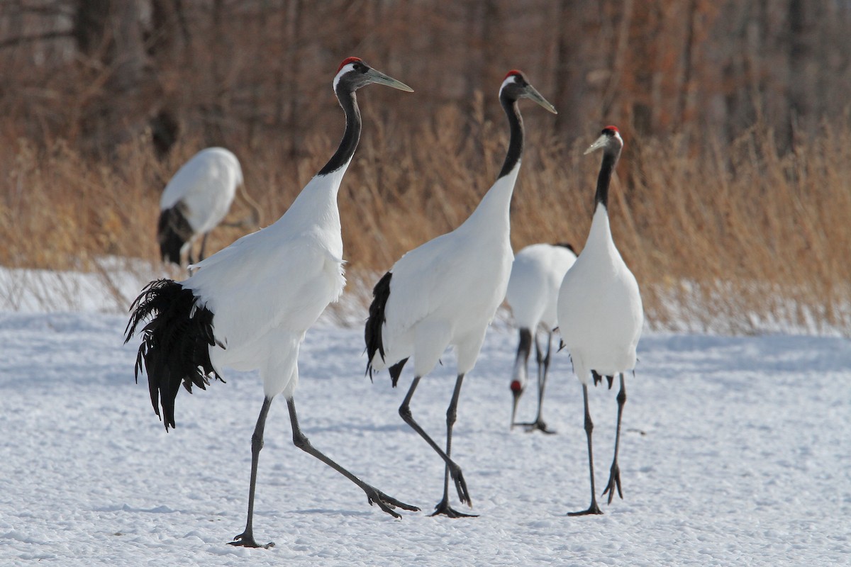
[[[243,169],[230,150],[207,148],[183,164],[168,180],[160,197],[157,240],[163,261],[180,265],[181,253],[186,250],[192,264],[192,244],[199,237],[202,240],[198,260],[203,260],[207,236],[225,218],[237,188],[242,190],[253,213],[250,220],[233,225],[256,225],[260,211],[245,191]]]

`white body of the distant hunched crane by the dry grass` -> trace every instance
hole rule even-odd
[[[213,230],[231,208],[243,170],[237,156],[224,148],[199,151],[174,173],[163,190],[160,210],[181,204],[195,235]]]

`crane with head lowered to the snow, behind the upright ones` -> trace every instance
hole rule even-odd
[[[511,307],[514,325],[517,326],[520,341],[517,344],[517,358],[511,372],[511,428],[523,425],[527,431],[538,429],[544,433],[555,433],[546,428],[541,417],[541,405],[544,403],[547,371],[550,369],[550,349],[552,332],[558,325],[556,303],[558,288],[562,285],[564,274],[576,261],[576,252],[569,244],[531,244],[517,252],[514,264],[511,264],[511,278],[505,292],[505,301]],[[540,349],[538,331],[546,336],[546,354]],[[538,362],[538,415],[534,422],[516,423],[517,402],[528,383],[528,359],[534,341],[535,358]]]

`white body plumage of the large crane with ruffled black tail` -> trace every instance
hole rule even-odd
[[[275,224],[195,264],[183,282],[215,314],[223,346],[210,347],[213,365],[259,368],[267,398],[292,397],[300,343],[346,285],[337,193],[348,166],[311,179]]]

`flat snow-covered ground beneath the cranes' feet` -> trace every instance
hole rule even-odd
[[[465,380],[454,435],[480,516],[447,519],[428,516],[443,462],[397,414],[408,371],[397,389],[386,372],[370,383],[363,327],[326,320],[301,349],[302,429],[423,511],[396,520],[369,507],[355,485],[292,445],[286,405],[275,400],[254,530],[277,545],[243,549],[226,542],[244,527],[259,377],[226,371],[225,384],[181,391],[167,434],[145,378],[134,383],[138,342],[123,345],[120,301],[75,294],[65,312],[60,299],[0,312],[0,564],[851,563],[847,339],[646,333],[626,383],[625,500],[602,499],[603,516],[572,518],[590,497],[580,384],[568,355],[555,355],[545,420],[557,434],[510,431],[516,337],[498,322]],[[448,354],[412,402],[438,442],[453,373]],[[591,389],[598,490],[616,393]],[[530,388],[520,419],[534,417],[534,398]]]

